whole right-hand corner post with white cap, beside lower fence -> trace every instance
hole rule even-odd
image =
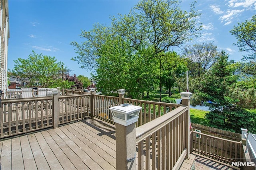
[[[192,96],[192,93],[190,92],[181,92],[180,93],[181,99],[182,99],[182,105],[188,106],[188,111],[186,111],[186,129],[185,129],[185,147],[187,149],[186,158],[190,155],[190,98]]]

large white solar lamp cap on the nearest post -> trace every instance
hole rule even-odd
[[[115,123],[128,126],[138,121],[142,107],[131,104],[120,104],[118,106],[110,107],[109,109]]]

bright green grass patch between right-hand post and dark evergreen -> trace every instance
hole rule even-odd
[[[204,118],[209,111],[190,109],[190,119],[192,123],[208,126],[208,120]]]

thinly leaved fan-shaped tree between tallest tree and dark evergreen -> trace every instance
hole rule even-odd
[[[201,43],[184,47],[183,55],[187,60],[190,76],[198,78],[204,76],[217,61],[218,50],[213,43]]]

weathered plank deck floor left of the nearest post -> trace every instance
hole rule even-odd
[[[0,161],[8,169],[116,169],[115,129],[85,119],[56,129],[0,141]]]

